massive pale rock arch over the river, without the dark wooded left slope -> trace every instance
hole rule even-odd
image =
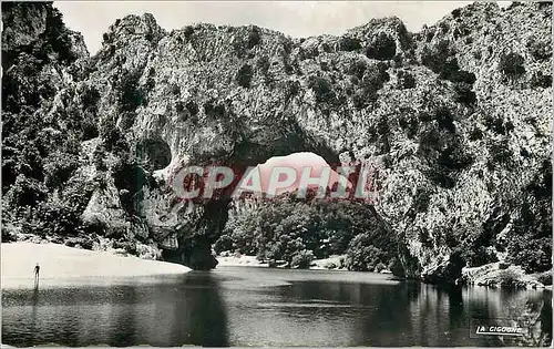
[[[473,4],[463,9],[462,18],[483,11],[507,16],[494,4]],[[441,28],[458,25],[450,17],[442,21],[450,24]],[[533,25],[550,32],[545,23]],[[478,29],[479,35],[488,30]],[[253,31],[259,40],[250,42]],[[519,91],[483,88],[500,81],[497,62],[483,69],[470,41],[454,42],[449,35],[435,28],[411,34],[399,19],[389,18],[350,30],[346,37],[359,45],[345,47],[345,37],[291,39],[254,27],[198,24],[167,33],[150,14],[129,16],[110,28],[86,82],[103,96],[101,114],[117,117],[123,106],[130,115],[129,107],[134,107],[131,138],[167,143],[172,162],[165,179],[184,165],[230,165],[240,172],[271,156],[302,151],[329,164],[382,164],[376,212],[406,243],[399,252],[406,273],[452,281],[461,271],[458,264],[453,271],[448,267],[452,256],[459,259],[456,244],[482,234],[482,222],[492,219],[491,207],[517,209],[517,193],[542,170],[521,167],[524,179],[514,178],[501,170],[507,163],[494,157],[499,148],[506,153],[505,144],[490,144],[494,127],[485,126],[486,136],[475,136],[475,130],[491,124],[490,117],[510,119],[516,137],[534,132],[534,126],[500,112]],[[368,54],[375,53],[377,42],[379,50],[394,57]],[[521,50],[526,50],[523,44]],[[442,64],[445,60],[449,64]],[[535,69],[550,70],[541,64]],[[121,82],[120,76],[127,79]],[[135,89],[125,95],[140,96],[138,103],[121,101],[121,89]],[[514,115],[536,114],[541,105],[545,110],[536,115],[536,124],[547,125],[550,103],[543,95],[541,101],[512,104]],[[494,116],[490,111],[496,111]],[[533,156],[547,158],[546,144],[526,147]],[[504,201],[506,192],[514,199]],[[173,234],[178,240],[167,258],[194,268],[214,266],[209,244],[225,224],[225,197],[174,204],[171,194],[152,189],[144,199],[154,236]],[[433,244],[424,245],[424,235]]]

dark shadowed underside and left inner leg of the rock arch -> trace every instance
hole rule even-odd
[[[187,162],[182,162],[179,165],[223,165],[233,168],[237,179],[245,173],[247,167],[256,166],[265,163],[274,156],[284,156],[291,153],[311,152],[320,155],[328,164],[339,164],[339,154],[328,146],[321,138],[312,135],[306,135],[299,127],[284,127],[288,122],[268,122],[263,130],[258,129],[260,134],[278,134],[277,137],[263,137],[263,144],[245,144],[239,143],[230,152],[205,152],[197,154],[191,152],[183,154],[183,158]],[[283,132],[275,132],[281,130]],[[176,170],[178,170],[177,167]],[[171,179],[170,179],[171,181]],[[193,229],[178,230],[170,233],[168,236],[174,236],[177,246],[165,248],[163,257],[166,260],[185,264],[194,269],[211,269],[214,268],[217,261],[212,256],[212,244],[218,238],[228,217],[230,203],[230,193],[233,193],[237,181],[232,185],[217,193],[217,197],[212,199],[195,202],[195,208],[181,211],[177,216],[179,219],[193,222],[187,226]],[[201,212],[198,214],[198,211]],[[178,223],[177,223],[178,226]],[[186,228],[185,228],[186,229]]]

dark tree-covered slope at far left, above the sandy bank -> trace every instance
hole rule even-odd
[[[100,96],[83,86],[80,93],[62,92],[52,105],[60,89],[52,68],[78,59],[71,32],[57,9],[38,2],[2,3],[4,24],[12,25],[19,11],[44,13],[45,30],[23,45],[16,32],[2,33],[2,239],[9,240],[9,228],[19,223],[23,233],[85,234],[79,216],[92,193],[91,183],[72,177],[81,165],[81,142],[98,134],[94,114]]]

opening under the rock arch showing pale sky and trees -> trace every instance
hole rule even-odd
[[[271,174],[283,167],[298,176],[273,191]],[[312,152],[300,152],[270,157],[256,168],[264,195],[233,196],[228,217],[213,243],[216,258],[271,267],[402,273],[396,236],[387,234],[372,205],[329,195],[336,193],[340,181],[350,189],[356,186],[351,177],[337,173],[334,164]],[[319,192],[321,182],[306,186],[301,178],[306,168],[311,178],[324,179],[324,193]],[[328,176],[322,175],[326,168]]]

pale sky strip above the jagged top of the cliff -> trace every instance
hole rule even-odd
[[[192,23],[247,25],[277,30],[291,37],[341,34],[372,18],[399,17],[408,30],[419,31],[453,9],[472,1],[55,1],[65,24],[83,34],[91,54],[102,34],[126,14],[154,14],[166,29]],[[506,1],[502,1],[506,2]],[[509,2],[509,1],[507,1]]]

